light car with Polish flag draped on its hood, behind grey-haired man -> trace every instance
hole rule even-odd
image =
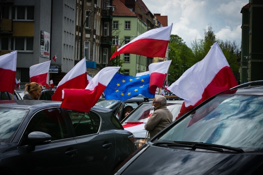
[[[173,114],[173,121],[178,116],[182,104],[183,100],[167,100],[167,108]],[[145,143],[146,138],[148,138],[148,136],[146,136],[147,131],[144,129],[144,125],[152,115],[152,112],[152,102],[144,102],[121,121],[123,128],[132,132],[135,136],[135,144],[137,148],[140,148]]]

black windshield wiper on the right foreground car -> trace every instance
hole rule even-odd
[[[218,151],[218,152],[223,152],[223,149],[228,149],[231,151],[235,151],[238,153],[244,153],[244,151],[242,149],[239,148],[233,148],[230,146],[224,146],[224,145],[219,145],[219,144],[209,144],[209,143],[203,143],[203,142],[181,142],[181,141],[173,141],[173,143],[171,142],[158,142],[155,143],[154,145],[161,145],[161,144],[166,144],[167,146],[178,146],[178,147],[187,147],[187,148],[191,148],[193,150],[195,149],[207,149],[207,150],[211,150],[211,151]]]

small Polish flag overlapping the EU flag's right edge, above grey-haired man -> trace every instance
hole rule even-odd
[[[149,72],[150,72],[149,90],[152,94],[155,94],[157,87],[163,86],[171,62],[172,60],[169,60],[159,63],[151,63],[149,65]]]

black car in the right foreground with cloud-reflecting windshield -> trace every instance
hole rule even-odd
[[[263,86],[244,87],[249,84],[253,82],[193,108],[146,142],[114,174],[261,174]]]

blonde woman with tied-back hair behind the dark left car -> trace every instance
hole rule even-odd
[[[25,95],[23,100],[38,100],[41,96],[42,85],[36,82],[31,82],[25,85]],[[28,92],[28,94],[26,94]]]

